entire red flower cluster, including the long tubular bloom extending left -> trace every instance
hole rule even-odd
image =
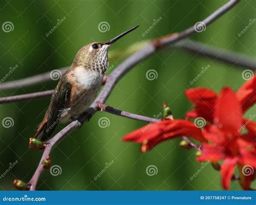
[[[164,120],[149,124],[129,133],[123,140],[142,144],[141,149],[146,152],[164,140],[192,137],[203,143],[198,161],[224,160],[221,177],[225,189],[230,187],[237,165],[241,186],[249,189],[256,169],[256,123],[252,121],[254,116],[246,119],[242,114],[256,102],[256,77],[247,81],[236,94],[227,87],[221,90],[219,97],[206,88],[188,89],[185,94],[195,104],[194,110],[187,112],[187,120]],[[197,117],[203,117],[209,124],[199,129],[188,121]],[[244,129],[246,133],[242,132]],[[252,174],[244,174],[244,167],[250,167]]]

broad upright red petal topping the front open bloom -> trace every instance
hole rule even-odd
[[[221,90],[215,105],[214,122],[227,135],[238,135],[242,126],[242,110],[232,89],[226,87]]]

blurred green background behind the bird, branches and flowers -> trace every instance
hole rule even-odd
[[[14,30],[0,30],[1,78],[10,67],[18,65],[6,81],[47,72],[69,66],[80,47],[92,41],[105,41],[132,26],[140,27],[111,47],[116,51],[110,66],[116,67],[125,58],[127,48],[143,42],[179,32],[203,20],[227,1],[1,1],[0,23],[12,22]],[[255,24],[238,37],[255,17],[255,1],[241,1],[235,8],[191,39],[227,51],[255,57]],[[65,17],[58,28],[46,37],[58,19]],[[143,37],[154,20],[159,23]],[[98,25],[109,23],[109,31],[100,32]],[[111,53],[110,53],[111,55]],[[201,67],[210,65],[192,86],[190,81],[198,75]],[[149,69],[157,71],[155,80],[147,80]],[[136,66],[120,80],[107,104],[140,115],[156,116],[167,101],[174,118],[184,118],[191,103],[184,95],[189,87],[208,87],[217,92],[223,86],[234,90],[245,82],[242,69],[226,65],[218,60],[201,58],[183,51],[167,49],[160,51]],[[53,89],[57,81],[36,86],[0,91],[0,95],[18,95],[34,91]],[[14,119],[14,126],[0,126],[0,172],[5,172],[10,163],[18,161],[11,171],[0,179],[0,188],[12,190],[16,178],[28,182],[35,171],[41,151],[30,150],[29,138],[42,120],[49,98],[15,104],[0,105],[0,119]],[[248,117],[255,107],[246,114]],[[101,117],[109,119],[107,128],[98,125]],[[187,151],[178,146],[180,139],[165,142],[147,153],[139,152],[139,145],[122,142],[127,133],[145,125],[105,112],[98,112],[89,123],[72,132],[51,153],[53,165],[62,173],[52,176],[45,171],[38,182],[39,190],[221,190],[220,173],[211,165],[201,168],[194,150]],[[59,125],[58,130],[64,128]],[[55,132],[55,133],[56,133]],[[95,180],[106,166],[114,163]],[[146,168],[154,165],[158,173],[146,174]],[[196,178],[191,176],[198,169]],[[255,183],[254,183],[255,185]],[[232,190],[240,190],[238,182],[231,182]]]

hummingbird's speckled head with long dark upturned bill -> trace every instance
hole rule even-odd
[[[127,33],[137,29],[138,26],[119,34],[111,40],[105,42],[95,42],[82,47],[76,54],[76,58],[73,61],[73,66],[85,66],[85,68],[92,68],[95,70],[106,71],[108,67],[108,55],[107,51],[109,47],[116,42],[119,38],[122,38]]]

